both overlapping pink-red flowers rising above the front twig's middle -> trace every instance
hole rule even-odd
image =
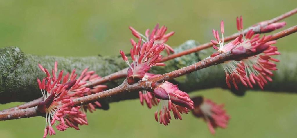
[[[159,24],[154,27],[151,33],[149,33],[150,30],[147,29],[145,35],[142,35],[131,26],[129,26],[129,29],[132,31],[132,34],[139,39],[138,43],[132,38],[130,39],[133,46],[133,48],[130,49],[132,63],[129,63],[123,51],[120,50],[120,53],[123,60],[129,65],[127,74],[128,83],[133,84],[143,79],[145,73],[148,72],[152,66],[165,66],[164,63],[160,63],[162,59],[160,53],[164,49],[166,49],[168,54],[170,51],[174,52],[170,46],[165,44],[174,32],[165,34],[167,27],[162,26],[159,28]]]

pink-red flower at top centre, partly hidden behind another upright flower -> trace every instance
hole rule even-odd
[[[165,32],[167,31],[167,27],[165,27],[164,25],[161,26],[161,28],[159,28],[159,24],[157,24],[154,29],[151,31],[151,33],[149,33],[149,29],[146,30],[145,35],[139,33],[138,31],[136,31],[133,27],[129,26],[129,29],[131,30],[132,34],[136,37],[136,38],[142,38],[144,42],[149,42],[150,40],[154,39],[154,44],[161,44],[164,43],[165,46],[165,50],[167,52],[167,54],[169,55],[170,52],[174,52],[173,48],[171,48],[170,46],[168,46],[166,44],[168,38],[170,36],[172,36],[174,34],[174,32],[170,32],[168,34],[165,34]],[[135,41],[131,38],[130,39],[132,46],[134,46]]]

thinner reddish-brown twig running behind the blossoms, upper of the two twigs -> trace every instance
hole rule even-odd
[[[275,17],[275,18],[273,18],[271,20],[267,20],[265,23],[262,23],[261,25],[258,24],[256,26],[250,26],[247,29],[245,29],[244,32],[246,33],[248,30],[253,29],[255,33],[261,33],[260,32],[260,27],[269,25],[269,24],[274,23],[274,22],[278,22],[278,21],[280,21],[282,19],[290,17],[291,15],[293,15],[295,13],[297,13],[297,8],[295,8],[295,9],[289,11],[289,12],[286,12],[285,14],[282,14],[282,15],[280,15],[278,17]],[[238,36],[239,36],[239,33],[235,33],[233,35],[225,37],[224,41],[228,42],[230,40],[235,39]],[[190,53],[193,53],[193,52],[197,52],[197,51],[203,50],[205,48],[209,48],[212,45],[213,45],[213,43],[211,43],[211,42],[204,43],[204,44],[201,44],[201,45],[199,45],[197,47],[190,48],[188,50],[182,51],[180,53],[175,53],[175,54],[169,55],[167,57],[164,57],[161,62],[168,61],[168,60],[171,60],[171,59],[174,59],[174,58],[177,58],[177,57],[180,57],[180,56],[184,56],[184,55],[187,55],[187,54],[190,54]],[[112,80],[119,79],[119,78],[124,78],[124,77],[127,76],[127,70],[128,70],[128,68],[122,69],[122,70],[120,70],[118,72],[107,75],[107,76],[102,77],[100,79],[97,79],[97,80],[95,80],[93,82],[87,83],[85,86],[86,87],[93,87],[93,86],[100,85],[100,84],[103,84],[103,83],[108,82],[108,81],[112,81]],[[29,108],[29,107],[36,106],[39,102],[40,102],[40,98],[39,98],[39,100],[33,100],[28,104],[24,103],[24,104],[18,105],[17,107],[8,108],[8,109],[2,110],[2,111],[9,111],[9,110],[15,110],[15,109],[21,109],[21,108]]]

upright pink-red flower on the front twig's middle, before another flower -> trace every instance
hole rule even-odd
[[[138,43],[135,43],[130,50],[132,63],[130,64],[127,56],[120,50],[121,56],[129,65],[127,79],[129,84],[138,82],[144,77],[144,74],[149,71],[151,66],[164,66],[164,63],[159,63],[162,59],[160,52],[163,51],[165,46],[163,43],[154,44],[154,39],[141,45],[141,38]]]

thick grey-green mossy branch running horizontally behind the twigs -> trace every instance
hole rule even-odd
[[[194,40],[189,40],[176,48],[176,52],[197,46]],[[150,72],[163,74],[183,66],[193,64],[210,55],[211,50],[203,50],[191,53],[186,56],[165,62],[164,67],[153,67]],[[277,56],[282,62],[278,64],[278,69],[274,72],[274,81],[265,87],[266,90],[280,92],[296,92],[297,90],[297,59],[296,53],[282,53]],[[126,63],[120,56],[88,56],[88,57],[59,57],[59,56],[37,56],[24,54],[17,47],[6,47],[0,49],[0,103],[14,101],[26,102],[41,97],[36,78],[45,77],[40,71],[38,63],[47,69],[52,69],[54,61],[58,61],[58,68],[64,72],[71,72],[76,68],[79,73],[86,67],[96,71],[100,76],[106,76],[117,72],[125,67]],[[212,87],[225,88],[225,74],[220,65],[201,69],[188,75],[172,80],[178,84],[181,90],[190,92]],[[121,84],[123,79],[108,82],[109,88]],[[244,90],[234,91],[235,94],[242,94]],[[125,93],[117,97],[109,98],[109,101],[137,98],[137,92]]]

